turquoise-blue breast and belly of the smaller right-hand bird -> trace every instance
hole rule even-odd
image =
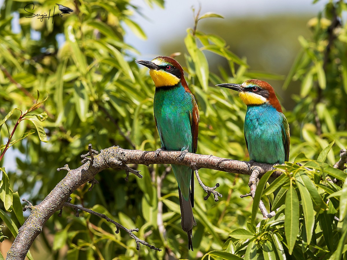
[[[244,132],[249,158],[255,162],[284,163],[282,117],[269,103],[247,106]]]

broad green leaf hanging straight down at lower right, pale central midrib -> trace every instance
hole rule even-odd
[[[285,235],[288,244],[288,252],[293,253],[296,236],[299,233],[299,199],[293,185],[290,185],[286,196],[285,208]]]

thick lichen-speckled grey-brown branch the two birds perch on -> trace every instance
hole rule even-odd
[[[91,149],[91,147],[90,147]],[[100,171],[112,169],[125,169],[134,173],[139,178],[142,175],[138,171],[130,169],[126,164],[180,164],[196,169],[208,168],[225,172],[251,175],[251,167],[256,166],[260,178],[265,172],[273,170],[270,164],[255,163],[246,161],[230,160],[213,155],[202,155],[187,153],[183,160],[180,160],[180,151],[162,151],[156,156],[155,151],[125,150],[118,146],[101,150],[99,154],[93,155],[93,163],[89,160],[81,167],[69,170],[66,177],[62,179],[50,194],[39,204],[32,205],[31,213],[22,227],[18,230],[18,235],[7,253],[7,260],[25,259],[25,256],[33,241],[42,232],[46,221],[58,210],[60,210],[70,194],[83,183],[92,181]],[[69,169],[66,165],[64,169]],[[280,171],[275,171],[272,177],[281,175]]]

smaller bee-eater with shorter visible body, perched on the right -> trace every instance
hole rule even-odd
[[[282,164],[289,159],[289,125],[271,85],[251,79],[242,84],[216,86],[239,92],[247,105],[244,124],[249,159],[255,162]]]

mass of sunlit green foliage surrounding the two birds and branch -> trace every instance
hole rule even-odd
[[[161,0],[146,2],[164,5]],[[25,18],[24,6],[28,3],[6,0],[0,12],[0,113],[1,118],[6,118],[14,108],[25,111],[34,103],[37,91],[41,95],[48,93],[49,98],[35,111],[37,115],[47,113],[40,125],[48,143],[40,142],[40,135],[30,134],[12,147],[24,156],[16,159],[16,171],[2,174],[0,199],[7,212],[1,209],[0,217],[9,229],[3,232],[10,238],[22,224],[23,216],[17,210],[19,197],[39,203],[64,177],[56,169],[66,163],[70,169],[79,167],[79,155],[86,152],[89,143],[97,150],[112,145],[141,150],[160,147],[153,118],[154,84],[148,70],[138,68],[134,62],[137,51],[123,41],[125,26],[139,37],[146,37],[131,19],[137,7],[128,0],[74,2],[75,5],[61,2],[74,12],[56,17],[51,23],[48,19]],[[33,12],[42,14],[54,5],[50,0],[41,1]],[[76,218],[72,210],[64,209],[62,217],[51,217],[40,235],[51,258],[168,259],[174,255],[177,259],[196,259],[205,255],[238,259],[245,255],[247,259],[327,259],[336,252],[339,259],[347,237],[343,199],[347,184],[341,189],[326,177],[342,183],[346,179],[344,172],[329,164],[335,163],[338,151],[347,143],[347,33],[346,24],[340,23],[331,33],[328,28],[336,17],[341,21],[343,10],[344,2],[329,2],[316,22],[310,21],[314,34],[310,39],[300,38],[303,51],[285,82],[285,86],[292,79],[302,82],[301,96],[294,97],[297,105],[285,113],[291,128],[290,161],[300,161],[313,171],[287,163],[279,166],[284,172],[280,178],[266,185],[265,190],[257,190],[257,199],[262,197],[268,207],[271,201],[273,209],[278,208],[276,217],[261,220],[252,199],[239,197],[249,191],[248,176],[201,169],[205,185],[221,183],[219,192],[224,196],[218,203],[211,198],[204,201],[203,190],[195,188],[195,251],[188,252],[186,234],[180,228],[175,177],[169,173],[157,185],[168,165],[133,165],[142,171],[143,179],[130,176],[127,183],[124,171],[106,170],[98,174],[100,184],[92,192],[85,184],[74,192],[71,202],[104,213],[127,228],[138,227],[141,239],[163,251],[145,246],[136,251],[135,241],[122,230],[115,234],[115,226],[104,219],[86,213]],[[18,34],[11,31],[14,11],[20,15]],[[40,39],[31,38],[32,29],[41,34]],[[335,37],[327,52],[331,34]],[[65,42],[58,48],[57,37],[62,35]],[[181,42],[187,49],[182,65],[200,109],[198,153],[247,160],[243,134],[246,107],[231,91],[213,86],[242,83],[249,78],[278,80],[278,75],[250,71],[245,59],[235,55],[218,35],[188,29]],[[208,53],[221,56],[228,67],[212,73],[206,59]],[[1,144],[7,143],[16,115],[2,125]],[[37,131],[26,121],[18,124],[13,140]],[[329,145],[332,142],[335,144]],[[5,158],[11,155],[7,152]],[[265,182],[264,179],[264,186]],[[271,194],[279,187],[273,199]],[[4,190],[7,196],[1,195]],[[166,234],[159,232],[158,207],[163,207]],[[340,223],[333,220],[334,215],[341,218]]]

